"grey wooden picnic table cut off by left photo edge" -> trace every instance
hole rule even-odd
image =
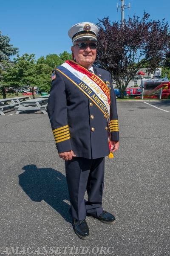
[[[0,115],[5,115],[4,110],[8,108],[14,108],[14,106],[20,105],[26,99],[31,99],[30,96],[12,97],[6,99],[0,99]]]

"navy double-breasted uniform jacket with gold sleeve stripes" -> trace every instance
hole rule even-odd
[[[48,99],[48,116],[59,153],[73,150],[77,157],[96,159],[110,153],[108,134],[111,140],[119,140],[116,97],[111,74],[93,67],[96,76],[111,84],[110,123],[106,116],[68,78],[53,70],[56,78]],[[115,131],[116,130],[116,131]]]

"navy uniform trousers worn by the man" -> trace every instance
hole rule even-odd
[[[102,213],[105,157],[87,159],[74,157],[65,161],[66,179],[73,218],[83,220],[86,213]],[[88,201],[85,201],[87,190]]]

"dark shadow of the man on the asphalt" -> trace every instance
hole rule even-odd
[[[64,202],[70,200],[65,176],[52,168],[37,168],[34,164],[23,166],[22,169],[25,172],[18,176],[19,184],[31,200],[44,200],[59,212],[65,221],[71,223],[71,215],[68,212],[70,205]]]

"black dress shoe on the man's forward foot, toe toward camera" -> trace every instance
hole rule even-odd
[[[76,235],[81,239],[87,239],[89,236],[89,229],[86,220],[78,221],[73,219],[73,228]]]

